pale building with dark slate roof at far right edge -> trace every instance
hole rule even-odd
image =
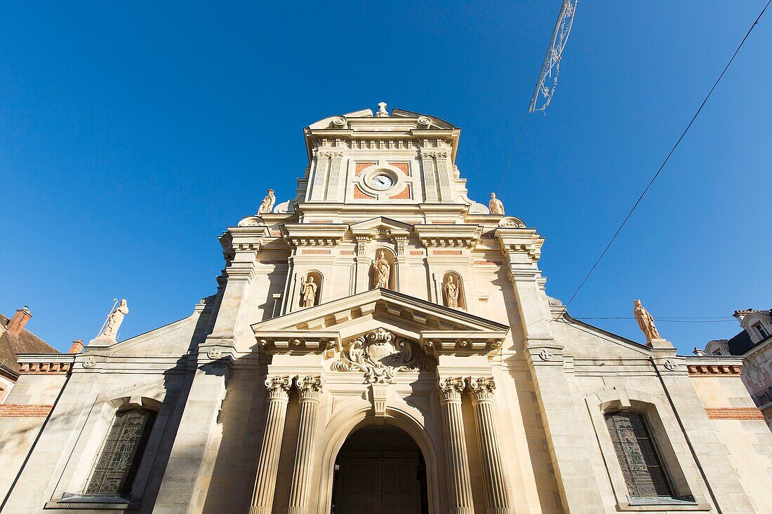
[[[743,357],[745,387],[772,429],[772,310],[736,310],[734,317],[743,327],[740,333],[710,341],[695,353]]]

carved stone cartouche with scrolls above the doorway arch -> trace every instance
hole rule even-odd
[[[413,354],[410,341],[379,328],[353,340],[339,360],[336,371],[362,371],[365,384],[393,384],[398,371],[426,369],[426,361]]]

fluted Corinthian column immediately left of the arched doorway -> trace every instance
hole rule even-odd
[[[295,444],[292,484],[289,486],[287,514],[308,512],[308,491],[316,445],[317,412],[324,381],[321,377],[297,377],[295,385],[300,399],[300,421]]]

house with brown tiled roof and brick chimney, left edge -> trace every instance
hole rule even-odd
[[[0,404],[19,379],[18,353],[59,353],[49,343],[25,329],[31,317],[28,306],[18,309],[10,319],[0,314]]]

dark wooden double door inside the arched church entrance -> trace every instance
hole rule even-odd
[[[418,456],[410,453],[341,455],[334,514],[421,514]]]

